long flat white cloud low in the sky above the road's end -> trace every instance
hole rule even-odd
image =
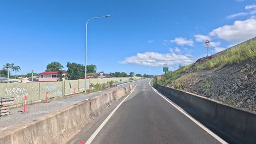
[[[191,55],[177,55],[175,53],[158,53],[158,52],[144,52],[137,53],[135,56],[126,57],[125,61],[119,62],[121,64],[137,64],[146,66],[161,66],[165,63],[170,64],[190,64],[193,62]]]

